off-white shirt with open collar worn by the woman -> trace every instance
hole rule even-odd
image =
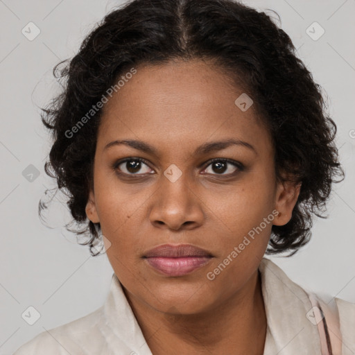
[[[306,291],[269,259],[262,259],[259,271],[268,324],[263,355],[322,354],[318,326],[306,316],[312,309]],[[354,355],[355,304],[338,298],[333,304],[336,308],[321,304],[340,318],[343,353],[335,351],[333,355]],[[331,327],[329,330],[334,336]],[[43,331],[14,355],[68,354],[153,355],[115,274],[103,306],[83,318]]]

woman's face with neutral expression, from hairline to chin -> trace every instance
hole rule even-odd
[[[277,183],[271,138],[241,94],[205,62],[171,62],[137,67],[103,109],[87,216],[125,292],[157,311],[199,313],[242,293],[272,224],[291,218],[299,189]],[[145,257],[165,244],[209,257],[180,268]]]

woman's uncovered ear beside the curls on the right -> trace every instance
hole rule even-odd
[[[277,183],[275,209],[279,211],[279,214],[275,217],[273,225],[286,225],[291,220],[293,207],[300,195],[301,184],[296,184],[291,180]]]

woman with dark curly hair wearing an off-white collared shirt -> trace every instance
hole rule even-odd
[[[354,304],[264,258],[309,241],[343,178],[284,31],[231,0],[135,0],[60,74],[46,172],[114,275],[100,309],[16,355],[354,354]]]

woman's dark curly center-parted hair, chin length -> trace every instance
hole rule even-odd
[[[101,226],[87,219],[85,206],[102,110],[73,137],[67,132],[129,68],[194,58],[213,60],[243,83],[272,137],[277,180],[302,183],[291,220],[272,226],[266,254],[295,254],[311,237],[313,214],[327,218],[322,213],[331,184],[345,177],[336,124],[290,37],[266,13],[232,0],[134,0],[107,14],[70,61],[55,65],[63,91],[42,108],[53,138],[45,171],[69,198],[77,226],[67,230],[88,236],[80,244],[89,244],[93,256]],[[46,206],[41,200],[40,216]]]

